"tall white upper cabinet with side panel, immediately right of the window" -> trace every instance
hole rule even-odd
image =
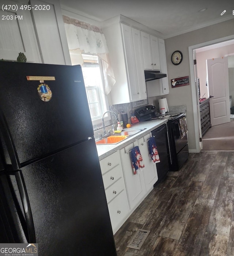
[[[102,28],[116,83],[112,104],[147,98],[140,31],[120,22]]]

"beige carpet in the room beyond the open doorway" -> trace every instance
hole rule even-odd
[[[234,119],[230,123],[212,126],[202,138],[203,150],[234,151]]]

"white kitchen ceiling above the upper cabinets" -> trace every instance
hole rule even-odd
[[[158,31],[163,38],[234,18],[231,0],[60,0],[60,3],[68,11],[98,22],[124,15]],[[204,8],[207,10],[199,11]]]

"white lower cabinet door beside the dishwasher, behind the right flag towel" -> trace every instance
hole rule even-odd
[[[150,139],[150,133],[138,140],[140,153],[144,161],[144,168],[142,170],[144,176],[144,184],[146,191],[153,189],[155,182],[158,180],[156,164],[152,162],[149,156],[147,140]]]

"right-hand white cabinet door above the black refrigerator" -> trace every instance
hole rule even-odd
[[[46,6],[48,10],[32,9],[34,26],[46,64],[71,65],[63,16],[57,0],[30,0],[31,5]]]

